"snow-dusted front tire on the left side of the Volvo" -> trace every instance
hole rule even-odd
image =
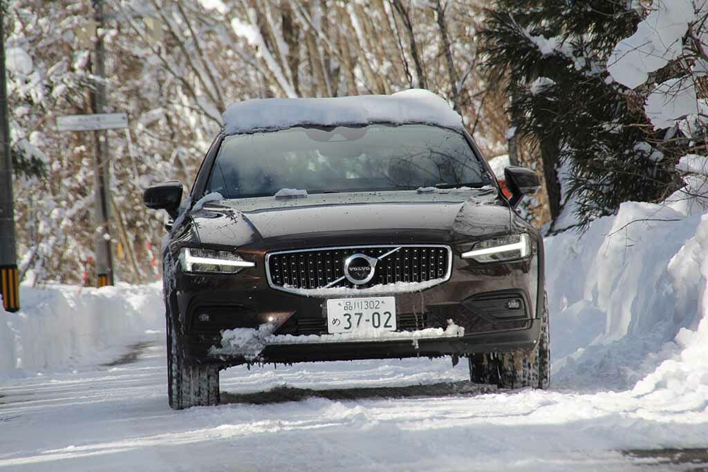
[[[188,362],[177,343],[176,329],[167,316],[167,393],[170,407],[219,404],[219,366]]]

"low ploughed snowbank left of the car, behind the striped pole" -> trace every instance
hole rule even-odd
[[[0,376],[107,362],[164,330],[159,284],[21,287],[21,311],[0,309]]]

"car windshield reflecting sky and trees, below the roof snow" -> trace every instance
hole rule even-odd
[[[490,183],[464,136],[428,125],[293,127],[222,142],[205,193],[265,197]]]

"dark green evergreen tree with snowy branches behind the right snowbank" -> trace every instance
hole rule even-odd
[[[641,106],[646,91],[607,72],[613,48],[645,13],[639,2],[608,0],[498,0],[486,11],[484,67],[506,86],[517,135],[540,153],[551,231],[567,225],[556,221],[565,202],[584,227],[680,185],[673,169],[687,142],[654,131]]]

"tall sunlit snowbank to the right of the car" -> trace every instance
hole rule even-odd
[[[706,164],[695,157],[686,168]],[[646,391],[688,377],[708,385],[708,370],[697,370],[708,366],[705,208],[704,198],[677,192],[663,205],[624,203],[582,238],[547,238],[556,386],[632,388],[644,379],[636,388]]]

